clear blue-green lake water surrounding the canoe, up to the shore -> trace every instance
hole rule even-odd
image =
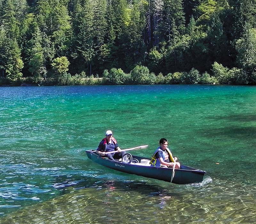
[[[0,88],[0,223],[255,223],[256,87]],[[106,130],[121,148],[159,139],[205,170],[175,185],[92,163]]]

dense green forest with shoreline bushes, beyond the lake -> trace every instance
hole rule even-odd
[[[256,84],[255,0],[0,0],[0,85]]]

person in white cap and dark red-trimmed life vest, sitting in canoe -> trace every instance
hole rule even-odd
[[[105,152],[112,152],[112,151],[117,151],[117,152],[105,154]],[[106,131],[106,137],[100,141],[100,144],[96,152],[101,157],[107,157],[112,160],[120,159],[125,154],[125,152],[121,151],[121,149],[118,147],[116,139],[113,137],[113,133],[110,130]]]

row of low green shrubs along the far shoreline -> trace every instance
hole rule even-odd
[[[214,62],[212,75],[207,72],[200,73],[192,68],[189,72],[175,72],[163,75],[149,71],[146,66],[135,66],[130,73],[125,73],[121,68],[104,70],[102,77],[99,75],[87,76],[85,72],[71,76],[70,73],[55,73],[45,79],[35,77],[22,77],[15,82],[0,78],[1,86],[53,86],[53,85],[153,85],[153,84],[256,84],[256,74],[248,74],[242,69],[227,67]]]

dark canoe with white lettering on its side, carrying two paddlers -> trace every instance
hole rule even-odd
[[[143,177],[149,177],[161,181],[171,182],[172,168],[150,166],[149,159],[140,156],[132,155],[133,161],[139,163],[124,163],[122,161],[114,161],[100,157],[95,150],[87,150],[86,155],[93,162],[102,166],[121,171],[127,174],[136,174]],[[199,183],[204,179],[205,171],[195,169],[189,166],[181,165],[180,169],[175,169],[175,175],[172,183],[175,184],[190,184]]]

